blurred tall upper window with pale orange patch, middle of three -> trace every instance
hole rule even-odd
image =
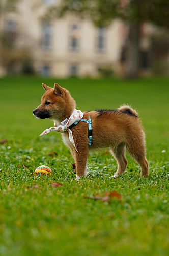
[[[78,51],[80,42],[79,26],[74,24],[70,28],[70,50]]]

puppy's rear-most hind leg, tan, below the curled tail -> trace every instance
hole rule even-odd
[[[139,164],[142,175],[147,177],[149,175],[149,165],[146,159],[146,148],[143,140],[128,141],[127,150],[130,155],[137,161]]]

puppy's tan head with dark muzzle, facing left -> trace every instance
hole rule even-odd
[[[54,83],[54,88],[42,83],[45,93],[42,96],[41,104],[33,110],[34,116],[40,119],[59,119],[66,113],[72,113],[76,107],[75,100],[68,90]]]

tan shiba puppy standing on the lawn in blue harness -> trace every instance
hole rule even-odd
[[[58,126],[68,120],[76,102],[70,92],[55,83],[54,88],[42,84],[45,93],[41,104],[33,110],[33,114],[40,119],[49,118]],[[118,169],[114,177],[122,175],[127,167],[126,150],[138,162],[142,176],[149,173],[146,159],[145,134],[138,113],[128,105],[116,110],[95,110],[82,113],[86,121],[78,121],[71,125],[74,144],[70,142],[69,131],[62,133],[64,143],[70,148],[76,163],[76,179],[87,175],[87,158],[89,150],[109,147],[111,154],[117,160]],[[92,143],[89,136],[89,122],[91,118]],[[83,120],[83,119],[81,119]],[[89,139],[90,138],[90,139]]]

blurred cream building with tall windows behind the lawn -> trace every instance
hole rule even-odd
[[[0,75],[33,70],[58,77],[122,73],[127,26],[114,20],[106,28],[96,28],[90,20],[74,15],[50,17],[49,8],[59,1],[18,0],[15,9],[1,13]],[[148,36],[152,31],[151,26],[143,26],[143,72],[149,72],[154,56]],[[168,60],[166,51],[163,58]]]

